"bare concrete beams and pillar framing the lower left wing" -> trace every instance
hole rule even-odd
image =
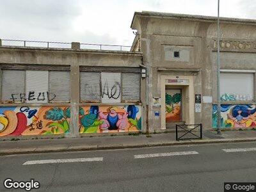
[[[78,47],[77,47],[78,46]],[[82,50],[79,49],[79,45],[72,46],[74,49],[49,49],[40,47],[11,47],[11,46],[1,46],[0,47],[0,65],[12,66],[15,64],[33,66],[44,70],[44,67],[52,67],[54,70],[54,65],[68,65],[70,66],[70,103],[59,103],[59,104],[0,104],[0,109],[4,113],[6,107],[17,108],[19,113],[20,108],[27,106],[29,110],[35,108],[40,111],[41,108],[47,108],[51,110],[54,108],[60,108],[64,111],[68,108],[70,116],[68,117],[68,132],[61,131],[61,134],[67,137],[79,136],[79,131],[81,131],[81,113],[79,113],[79,106],[95,106],[93,103],[80,104],[80,84],[79,84],[79,68],[81,66],[90,67],[137,67],[140,68],[142,54],[138,52],[127,52],[127,51],[98,51],[98,50]],[[104,71],[103,71],[104,72]],[[2,79],[2,78],[0,78]],[[145,84],[145,80],[141,79],[141,84]],[[1,83],[1,82],[0,82]],[[145,87],[141,86],[141,101],[145,100]],[[136,103],[137,108],[140,108],[140,116],[143,116],[143,108],[141,103]],[[64,106],[63,106],[64,105]],[[115,103],[115,104],[97,104],[97,106],[116,106],[120,108],[125,108],[125,106],[132,105],[132,103]],[[82,106],[81,106],[82,107]],[[31,109],[30,109],[31,108]],[[44,109],[42,109],[44,111]],[[42,111],[41,110],[41,111]],[[28,111],[25,111],[26,113]],[[24,113],[25,113],[24,112]],[[81,112],[81,110],[80,110]],[[83,115],[86,115],[83,114]],[[64,117],[63,117],[64,118]],[[66,117],[65,117],[66,118]],[[136,119],[137,120],[137,119]],[[29,120],[28,120],[29,122]],[[135,123],[135,122],[134,122]],[[47,122],[44,122],[47,124]],[[145,122],[143,122],[143,129],[145,131]],[[43,125],[44,126],[44,125]],[[28,127],[27,127],[28,128]],[[48,127],[49,128],[49,127]],[[80,130],[79,130],[80,129]],[[141,129],[141,127],[140,127]],[[45,129],[48,130],[48,129]],[[134,129],[135,130],[135,129]],[[22,134],[20,134],[22,135]]]

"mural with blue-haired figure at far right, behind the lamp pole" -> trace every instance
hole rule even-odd
[[[256,105],[221,105],[221,127],[256,127]],[[218,122],[218,107],[212,105],[212,127]]]

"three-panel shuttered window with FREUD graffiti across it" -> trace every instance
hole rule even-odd
[[[70,101],[70,72],[3,70],[2,102],[48,103]]]

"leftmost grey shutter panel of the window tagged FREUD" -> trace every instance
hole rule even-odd
[[[3,70],[2,72],[2,102],[21,102],[20,94],[24,94],[25,87],[25,71]]]

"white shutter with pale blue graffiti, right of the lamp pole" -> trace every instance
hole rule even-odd
[[[220,94],[222,101],[253,100],[253,74],[221,73]]]

